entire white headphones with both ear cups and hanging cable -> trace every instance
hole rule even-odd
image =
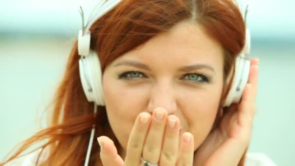
[[[98,5],[105,0],[101,0]],[[82,8],[80,7],[81,16],[82,16],[82,30],[79,32],[78,36],[78,53],[81,55],[79,60],[79,69],[80,77],[82,82],[83,91],[86,95],[86,98],[89,102],[94,102],[94,113],[97,113],[97,105],[104,106],[105,101],[103,97],[102,89],[102,73],[100,62],[98,59],[98,54],[94,50],[90,50],[90,39],[91,33],[89,31],[93,23],[95,23],[100,17],[112,10],[121,0],[108,0],[103,3],[99,10],[95,10],[98,5],[95,7],[94,11],[98,12],[94,14],[95,17],[92,17],[88,24],[84,27],[84,14]],[[248,6],[246,7],[245,12],[245,23],[246,15],[248,12]],[[93,14],[93,13],[92,13]],[[92,15],[91,14],[91,15]],[[229,94],[225,100],[223,107],[229,106],[231,103],[238,103],[241,100],[243,91],[245,89],[246,83],[249,77],[250,71],[250,61],[248,54],[250,51],[250,30],[246,29],[246,44],[244,49],[241,51],[239,56],[236,58],[236,70],[233,77],[233,82],[229,90]],[[229,79],[228,79],[229,83]],[[95,125],[93,125],[89,146],[87,150],[86,160],[84,166],[88,166],[90,152],[92,148],[92,142],[95,132]]]

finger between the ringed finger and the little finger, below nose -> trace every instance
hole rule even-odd
[[[168,116],[163,148],[160,156],[160,166],[175,166],[179,147],[180,126],[176,116]]]

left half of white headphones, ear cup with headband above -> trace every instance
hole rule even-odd
[[[104,0],[101,0],[98,5]],[[79,60],[80,77],[82,82],[83,91],[89,102],[95,102],[96,105],[104,106],[103,89],[102,89],[102,73],[98,54],[94,50],[90,50],[91,32],[89,31],[93,23],[100,17],[112,10],[121,0],[108,0],[103,3],[98,13],[94,14],[95,17],[88,20],[88,24],[84,27],[84,14],[80,7],[82,16],[82,30],[79,31],[78,36],[78,54],[81,55]],[[98,7],[95,7],[95,9]],[[94,11],[95,11],[94,9]],[[93,14],[93,13],[92,13]]]

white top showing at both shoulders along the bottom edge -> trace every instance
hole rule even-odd
[[[17,158],[5,166],[35,166],[39,150],[34,151],[31,154]],[[39,160],[43,160],[40,157]],[[245,166],[277,166],[269,157],[263,153],[247,153]]]

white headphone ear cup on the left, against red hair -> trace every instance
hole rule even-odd
[[[102,73],[98,54],[90,50],[87,56],[79,60],[79,71],[84,94],[89,102],[104,106]]]

